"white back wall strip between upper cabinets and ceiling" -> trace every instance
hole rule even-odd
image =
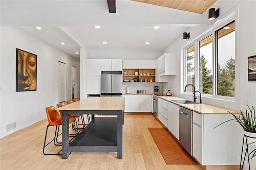
[[[135,50],[92,50],[88,51],[88,59],[123,59],[123,60],[155,60],[161,56],[160,51]]]

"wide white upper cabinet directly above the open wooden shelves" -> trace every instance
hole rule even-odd
[[[156,60],[123,60],[123,68],[156,68]]]

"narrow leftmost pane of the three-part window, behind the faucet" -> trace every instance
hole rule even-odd
[[[187,84],[195,85],[195,45],[188,47],[186,53]],[[188,86],[187,91],[193,92],[193,87]]]

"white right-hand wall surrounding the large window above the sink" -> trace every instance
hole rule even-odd
[[[236,24],[238,23],[238,54],[236,54],[236,61],[238,62],[238,68],[236,71],[238,74],[238,82],[239,82],[239,92],[238,92],[238,101],[237,103],[218,101],[218,100],[209,100],[203,99],[205,103],[210,103],[214,105],[229,107],[233,109],[246,109],[246,101],[249,99],[250,105],[256,107],[256,82],[248,82],[247,81],[247,57],[256,55],[256,22],[252,22],[255,20],[255,1],[217,1],[212,7],[220,8],[220,18],[221,16],[227,14],[230,10],[234,9],[238,6],[238,20],[236,20]],[[190,41],[182,40],[182,37],[178,37],[174,42],[168,45],[163,53],[176,53],[176,72],[177,75],[175,77],[168,78],[168,84],[164,84],[164,88],[169,88],[172,92],[177,96],[183,96],[183,98],[191,99],[191,96],[182,95],[180,93],[180,74],[181,74],[181,48],[182,46],[188,44],[196,37],[200,36],[207,29],[211,28],[215,21],[208,20],[208,11],[204,14],[204,25],[201,27],[190,28],[186,32],[190,32]],[[221,20],[221,19],[220,19]],[[166,87],[167,86],[167,87]],[[252,95],[246,96],[246,90],[251,89]],[[254,96],[254,98],[253,98]]]

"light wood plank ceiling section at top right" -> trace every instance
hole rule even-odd
[[[202,14],[217,0],[132,0]]]

